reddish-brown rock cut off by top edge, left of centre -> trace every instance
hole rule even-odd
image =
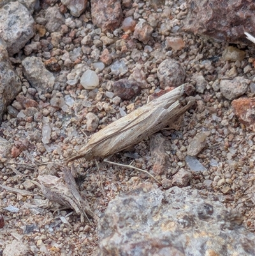
[[[91,0],[91,16],[93,24],[102,31],[113,31],[120,27],[122,10],[119,0]]]

